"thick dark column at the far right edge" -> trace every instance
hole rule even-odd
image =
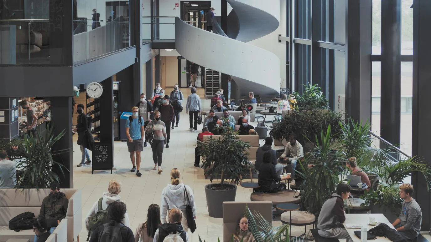
[[[414,1],[413,7],[413,117],[412,155],[431,165],[431,1]],[[383,73],[382,73],[383,74]],[[422,229],[430,230],[431,193],[422,174],[412,174],[413,198],[422,209]]]

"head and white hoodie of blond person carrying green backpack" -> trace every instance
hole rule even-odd
[[[103,195],[101,197],[102,199],[102,209],[106,210],[108,206],[115,201],[121,201],[121,197],[118,195],[121,192],[121,182],[118,180],[111,180],[108,185],[108,192],[103,192]],[[88,232],[90,232],[88,221],[97,214],[99,211],[99,199],[94,203],[93,207],[90,209],[90,211],[87,214],[87,218],[85,219],[85,227]],[[127,212],[124,214],[124,219],[121,221],[121,223],[126,226],[130,227],[130,221],[129,217],[127,215]]]

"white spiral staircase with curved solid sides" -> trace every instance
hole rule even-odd
[[[194,27],[175,18],[175,49],[185,59],[231,75],[240,95],[278,96],[280,59],[248,42],[278,28],[278,0],[228,0],[236,12],[236,40]]]

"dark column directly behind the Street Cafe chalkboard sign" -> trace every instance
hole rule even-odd
[[[112,144],[112,166],[114,159],[114,80],[112,77],[100,82],[103,86],[103,93],[100,96],[100,142]],[[120,83],[121,84],[121,83]]]

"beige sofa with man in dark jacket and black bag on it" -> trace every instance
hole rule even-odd
[[[64,225],[59,225],[56,230],[67,230],[67,233],[62,233],[62,235],[67,234],[67,241],[77,241],[82,230],[81,190],[61,189],[60,191],[66,194],[69,205],[66,219],[63,219],[67,221],[63,223]],[[32,230],[19,232],[9,230],[9,220],[24,212],[32,212],[36,217],[39,216],[42,201],[49,194],[49,189],[25,189],[24,191],[21,189],[0,189],[0,242],[6,242],[8,239],[33,239],[34,232]],[[61,242],[63,242],[62,239],[64,238],[60,238]]]

